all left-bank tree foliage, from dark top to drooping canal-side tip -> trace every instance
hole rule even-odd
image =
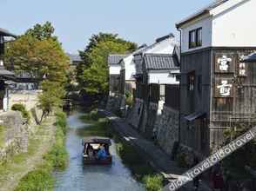
[[[29,74],[41,82],[43,91],[38,97],[38,107],[43,110],[42,119],[54,107],[62,105],[69,68],[69,58],[53,33],[51,23],[36,24],[6,49],[8,69]]]

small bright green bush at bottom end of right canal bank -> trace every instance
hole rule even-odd
[[[162,175],[146,175],[143,179],[147,191],[159,191],[163,188]]]

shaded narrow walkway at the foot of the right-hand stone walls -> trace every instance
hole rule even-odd
[[[99,110],[104,113],[110,120],[113,128],[118,131],[119,135],[122,136],[127,142],[130,142],[135,148],[138,148],[139,152],[145,155],[152,167],[155,168],[159,173],[165,175],[169,180],[176,179],[179,175],[185,173],[187,168],[179,168],[175,161],[170,159],[170,156],[165,154],[163,150],[158,148],[153,142],[146,140],[143,136],[139,135],[138,132],[131,128],[124,119],[119,118],[116,115],[111,114],[105,110]],[[192,190],[192,182],[185,185],[182,191]],[[211,191],[204,182],[201,183],[199,191]]]

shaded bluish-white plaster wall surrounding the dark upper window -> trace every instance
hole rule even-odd
[[[181,52],[188,52],[194,49],[189,49],[189,31],[196,30],[198,28],[202,28],[202,46],[195,49],[202,49],[206,47],[210,47],[212,44],[212,17],[208,16],[202,18],[196,23],[192,23],[190,25],[182,28],[181,32]]]

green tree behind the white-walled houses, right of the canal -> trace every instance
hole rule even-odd
[[[105,95],[108,91],[109,54],[127,54],[137,49],[136,43],[127,42],[118,35],[99,33],[91,36],[89,44],[80,52],[83,63],[77,66],[77,82],[89,95]]]

